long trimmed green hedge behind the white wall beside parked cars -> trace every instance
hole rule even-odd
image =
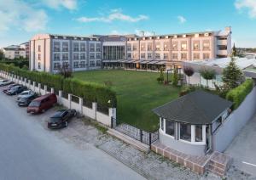
[[[116,93],[105,85],[83,82],[75,78],[63,78],[60,75],[52,75],[46,72],[22,70],[13,65],[0,63],[0,70],[7,71],[17,76],[22,76],[32,82],[40,82],[43,86],[54,87],[55,91],[62,90],[64,93],[84,98],[84,101],[97,102],[103,106],[116,107]]]

